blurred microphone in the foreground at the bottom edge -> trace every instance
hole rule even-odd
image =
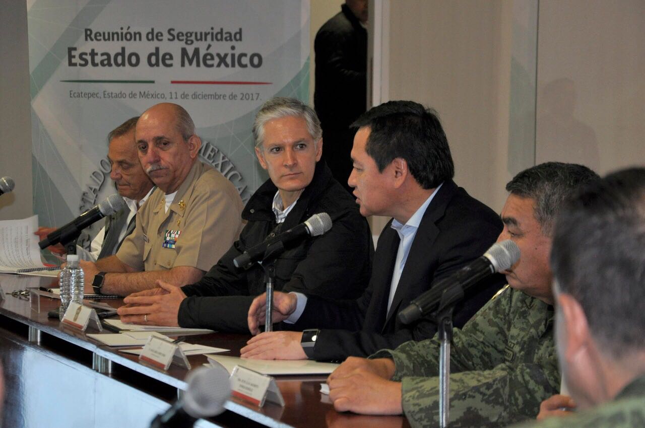
[[[150,428],[192,427],[199,418],[224,411],[231,396],[228,371],[224,367],[199,367],[186,376],[188,389],[165,413],[157,415]]]

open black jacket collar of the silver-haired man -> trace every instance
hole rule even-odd
[[[308,214],[308,208],[328,187],[330,180],[332,180],[332,171],[324,161],[316,162],[312,182],[304,189],[298,202],[284,220],[283,228],[285,230],[298,224],[303,216]],[[272,206],[273,197],[277,191],[278,189],[271,179],[266,180],[246,203],[246,207],[242,211],[242,218],[247,221],[275,220]]]

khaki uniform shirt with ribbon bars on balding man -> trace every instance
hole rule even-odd
[[[157,188],[137,213],[134,233],[117,257],[137,271],[192,266],[208,271],[241,231],[242,200],[235,186],[212,167],[196,161],[166,213]]]

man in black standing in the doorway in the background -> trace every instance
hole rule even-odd
[[[318,30],[313,43],[313,105],[323,127],[323,160],[350,193],[347,179],[355,133],[350,125],[367,108],[367,15],[367,0],[346,0],[341,12]]]

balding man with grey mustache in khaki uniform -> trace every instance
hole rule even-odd
[[[86,293],[128,295],[161,280],[191,284],[241,229],[242,200],[229,180],[197,160],[201,139],[184,108],[162,103],[146,110],[137,121],[135,144],[157,188],[116,255],[81,262]]]

